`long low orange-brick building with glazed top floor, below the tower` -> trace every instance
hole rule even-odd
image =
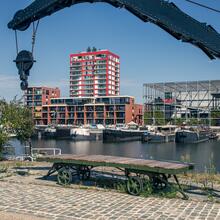
[[[142,124],[142,105],[130,96],[52,98],[42,106],[40,125]]]

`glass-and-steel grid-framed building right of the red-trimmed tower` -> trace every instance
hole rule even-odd
[[[220,126],[220,80],[144,84],[144,123]]]

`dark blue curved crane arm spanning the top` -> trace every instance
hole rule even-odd
[[[201,23],[164,0],[35,0],[18,11],[8,28],[26,30],[45,16],[78,3],[105,2],[125,8],[144,22],[152,22],[173,37],[199,47],[210,59],[220,58],[220,34],[210,25]]]

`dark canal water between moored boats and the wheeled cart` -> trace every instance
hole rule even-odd
[[[18,141],[13,141],[17,153],[22,153]],[[60,148],[63,154],[101,154],[144,159],[190,161],[198,171],[214,165],[220,172],[220,141],[199,144],[163,143],[152,144],[140,141],[103,143],[102,141],[32,140],[34,148]],[[20,150],[19,150],[20,149]]]

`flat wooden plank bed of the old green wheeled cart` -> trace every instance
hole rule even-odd
[[[44,156],[38,161],[52,163],[67,163],[86,166],[106,166],[131,169],[136,171],[148,171],[165,174],[178,174],[193,169],[193,165],[179,162],[164,162],[158,160],[145,160],[128,157],[104,156],[104,155],[72,155]]]

